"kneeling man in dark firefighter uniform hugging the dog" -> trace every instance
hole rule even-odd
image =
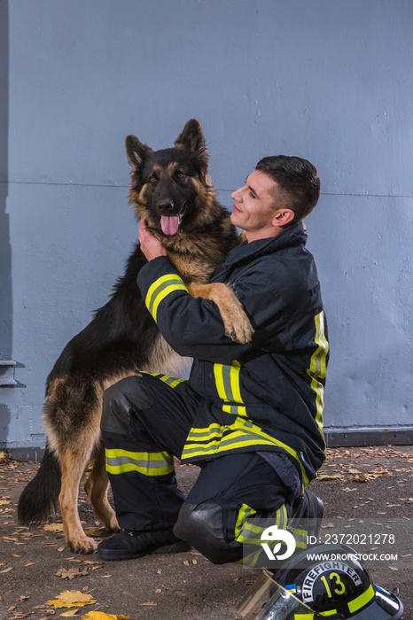
[[[191,298],[141,222],[148,262],[137,284],[163,337],[193,363],[187,381],[138,373],[105,391],[106,469],[123,531],[100,543],[101,558],[194,546],[211,562],[238,562],[261,519],[286,528],[292,517],[323,516],[307,487],[325,458],[329,345],[302,223],[319,191],[306,159],[275,156],[231,194],[231,221],[246,240],[212,282],[230,285],[244,306],[254,329],[246,344],[225,335],[213,302]],[[174,455],[200,468],[186,498]]]

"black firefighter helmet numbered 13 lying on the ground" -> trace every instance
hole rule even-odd
[[[295,554],[273,574],[264,570],[241,601],[245,620],[399,620],[399,598],[370,581],[354,549],[316,545]],[[325,559],[324,559],[325,558]],[[261,591],[259,593],[258,591]]]

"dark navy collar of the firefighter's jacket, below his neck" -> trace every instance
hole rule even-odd
[[[272,254],[273,252],[284,250],[284,248],[291,247],[292,245],[305,245],[306,241],[307,235],[304,231],[302,222],[297,221],[287,226],[287,228],[277,236],[270,236],[267,239],[252,241],[250,244],[244,241],[244,243],[237,245],[237,247],[228,254],[222,267],[230,267],[238,262],[244,262],[244,260],[264,256],[265,254]]]

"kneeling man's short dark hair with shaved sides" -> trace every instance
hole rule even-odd
[[[255,169],[277,182],[274,206],[292,209],[294,221],[304,220],[316,206],[320,196],[320,179],[316,167],[307,159],[274,155],[261,159]]]

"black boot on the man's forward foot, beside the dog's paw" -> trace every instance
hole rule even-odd
[[[191,546],[177,539],[172,528],[159,531],[124,530],[97,545],[97,553],[102,560],[131,560],[143,555],[175,554],[189,549]]]

